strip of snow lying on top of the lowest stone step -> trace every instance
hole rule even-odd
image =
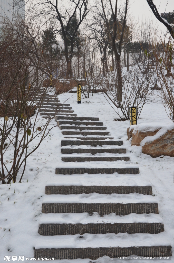
[[[160,234],[80,234],[65,236],[40,236],[36,249],[42,248],[65,248],[65,247],[131,247],[131,246],[160,246],[169,245],[170,241],[164,232]],[[137,244],[138,241],[138,244]],[[112,259],[113,260],[113,259]],[[64,260],[65,261],[65,260]],[[62,261],[61,261],[62,262]],[[67,262],[67,260],[65,261]],[[88,261],[89,262],[89,261]]]

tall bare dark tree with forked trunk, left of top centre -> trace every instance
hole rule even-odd
[[[52,17],[55,20],[58,21],[60,28],[55,28],[55,32],[61,33],[64,40],[64,54],[67,64],[67,70],[66,70],[66,78],[72,77],[72,69],[71,69],[71,61],[73,56],[73,50],[74,50],[74,39],[76,36],[76,33],[83,22],[83,20],[86,18],[89,10],[88,10],[88,0],[69,0],[68,5],[69,8],[67,9],[67,3],[66,5],[59,8],[59,3],[56,0],[45,0],[42,3],[38,3],[37,5],[41,5],[42,9],[44,11],[40,11],[38,15],[43,15],[43,13],[47,14],[48,17]],[[78,22],[76,24],[73,24],[74,18],[77,17]],[[74,25],[72,27],[72,25]],[[70,30],[71,29],[71,30]],[[71,32],[72,31],[72,32]],[[70,54],[68,52],[68,41],[70,40]]]

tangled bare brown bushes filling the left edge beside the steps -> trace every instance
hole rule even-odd
[[[36,25],[35,25],[36,26]],[[47,137],[50,118],[39,122],[38,112],[45,91],[40,86],[48,68],[40,43],[39,26],[34,21],[28,24],[20,19],[1,24],[0,46],[0,181],[21,182],[26,161],[42,140]],[[39,44],[40,43],[40,44]],[[38,45],[39,44],[39,45]],[[35,47],[38,59],[36,61]],[[38,145],[28,152],[36,136],[41,135]],[[10,162],[6,156],[13,157]]]

